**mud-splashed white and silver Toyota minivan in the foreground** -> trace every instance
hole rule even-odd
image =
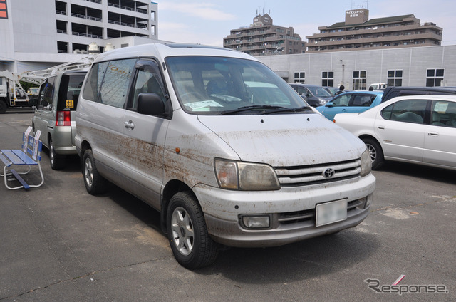
[[[113,182],[157,209],[189,269],[219,244],[331,234],[371,207],[366,145],[245,53],[155,43],[100,54],[76,126],[87,191]]]

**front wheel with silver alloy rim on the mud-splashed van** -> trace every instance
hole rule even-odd
[[[189,192],[175,194],[167,209],[167,235],[177,262],[187,269],[214,263],[217,243],[207,233],[201,207]]]

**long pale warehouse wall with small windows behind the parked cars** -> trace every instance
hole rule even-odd
[[[425,86],[427,69],[445,69],[444,85],[456,86],[456,46],[339,51],[296,55],[257,56],[288,82],[305,72],[306,84],[321,85],[323,71],[334,72],[334,86],[352,88],[353,71],[367,72],[367,85],[386,83],[388,71],[403,71],[403,86]]]

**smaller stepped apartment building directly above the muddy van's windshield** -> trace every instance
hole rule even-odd
[[[258,14],[250,26],[232,29],[223,38],[225,48],[251,56],[304,53],[306,43],[293,27],[276,26],[269,14]]]

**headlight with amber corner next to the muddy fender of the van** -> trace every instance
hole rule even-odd
[[[276,172],[269,165],[215,159],[214,168],[217,182],[223,189],[242,191],[280,189]]]

